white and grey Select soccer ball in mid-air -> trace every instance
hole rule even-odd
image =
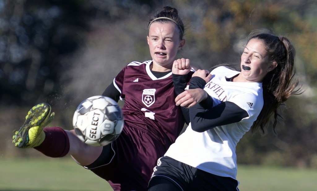
[[[113,142],[120,135],[123,124],[123,114],[118,103],[101,95],[81,102],[73,117],[77,137],[92,146],[104,146]]]

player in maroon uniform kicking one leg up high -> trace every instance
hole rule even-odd
[[[148,24],[152,60],[128,64],[102,94],[125,101],[124,128],[113,143],[103,147],[86,145],[74,130],[50,127],[42,131],[39,124],[36,135],[21,141],[19,147],[34,147],[49,157],[71,155],[78,164],[107,180],[114,190],[146,190],[158,158],[184,126],[181,109],[175,105],[171,75],[177,52],[185,44],[183,34],[177,9],[164,7]]]

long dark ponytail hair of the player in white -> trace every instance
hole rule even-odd
[[[284,102],[291,95],[302,93],[301,87],[298,87],[299,79],[293,79],[295,49],[292,43],[283,36],[261,33],[252,35],[249,40],[251,39],[261,40],[268,53],[269,61],[277,63],[276,68],[268,72],[262,81],[264,105],[251,127],[251,132],[261,129],[264,133],[270,121],[273,121],[273,131],[277,134],[276,124],[283,119],[279,112],[280,106],[285,105]]]

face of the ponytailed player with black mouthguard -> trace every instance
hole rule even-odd
[[[243,82],[262,82],[265,75],[275,67],[276,64],[269,61],[263,42],[251,39],[241,55],[239,79]]]

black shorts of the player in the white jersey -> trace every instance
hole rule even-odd
[[[233,178],[210,174],[165,156],[154,168],[148,191],[238,191],[238,184]]]

